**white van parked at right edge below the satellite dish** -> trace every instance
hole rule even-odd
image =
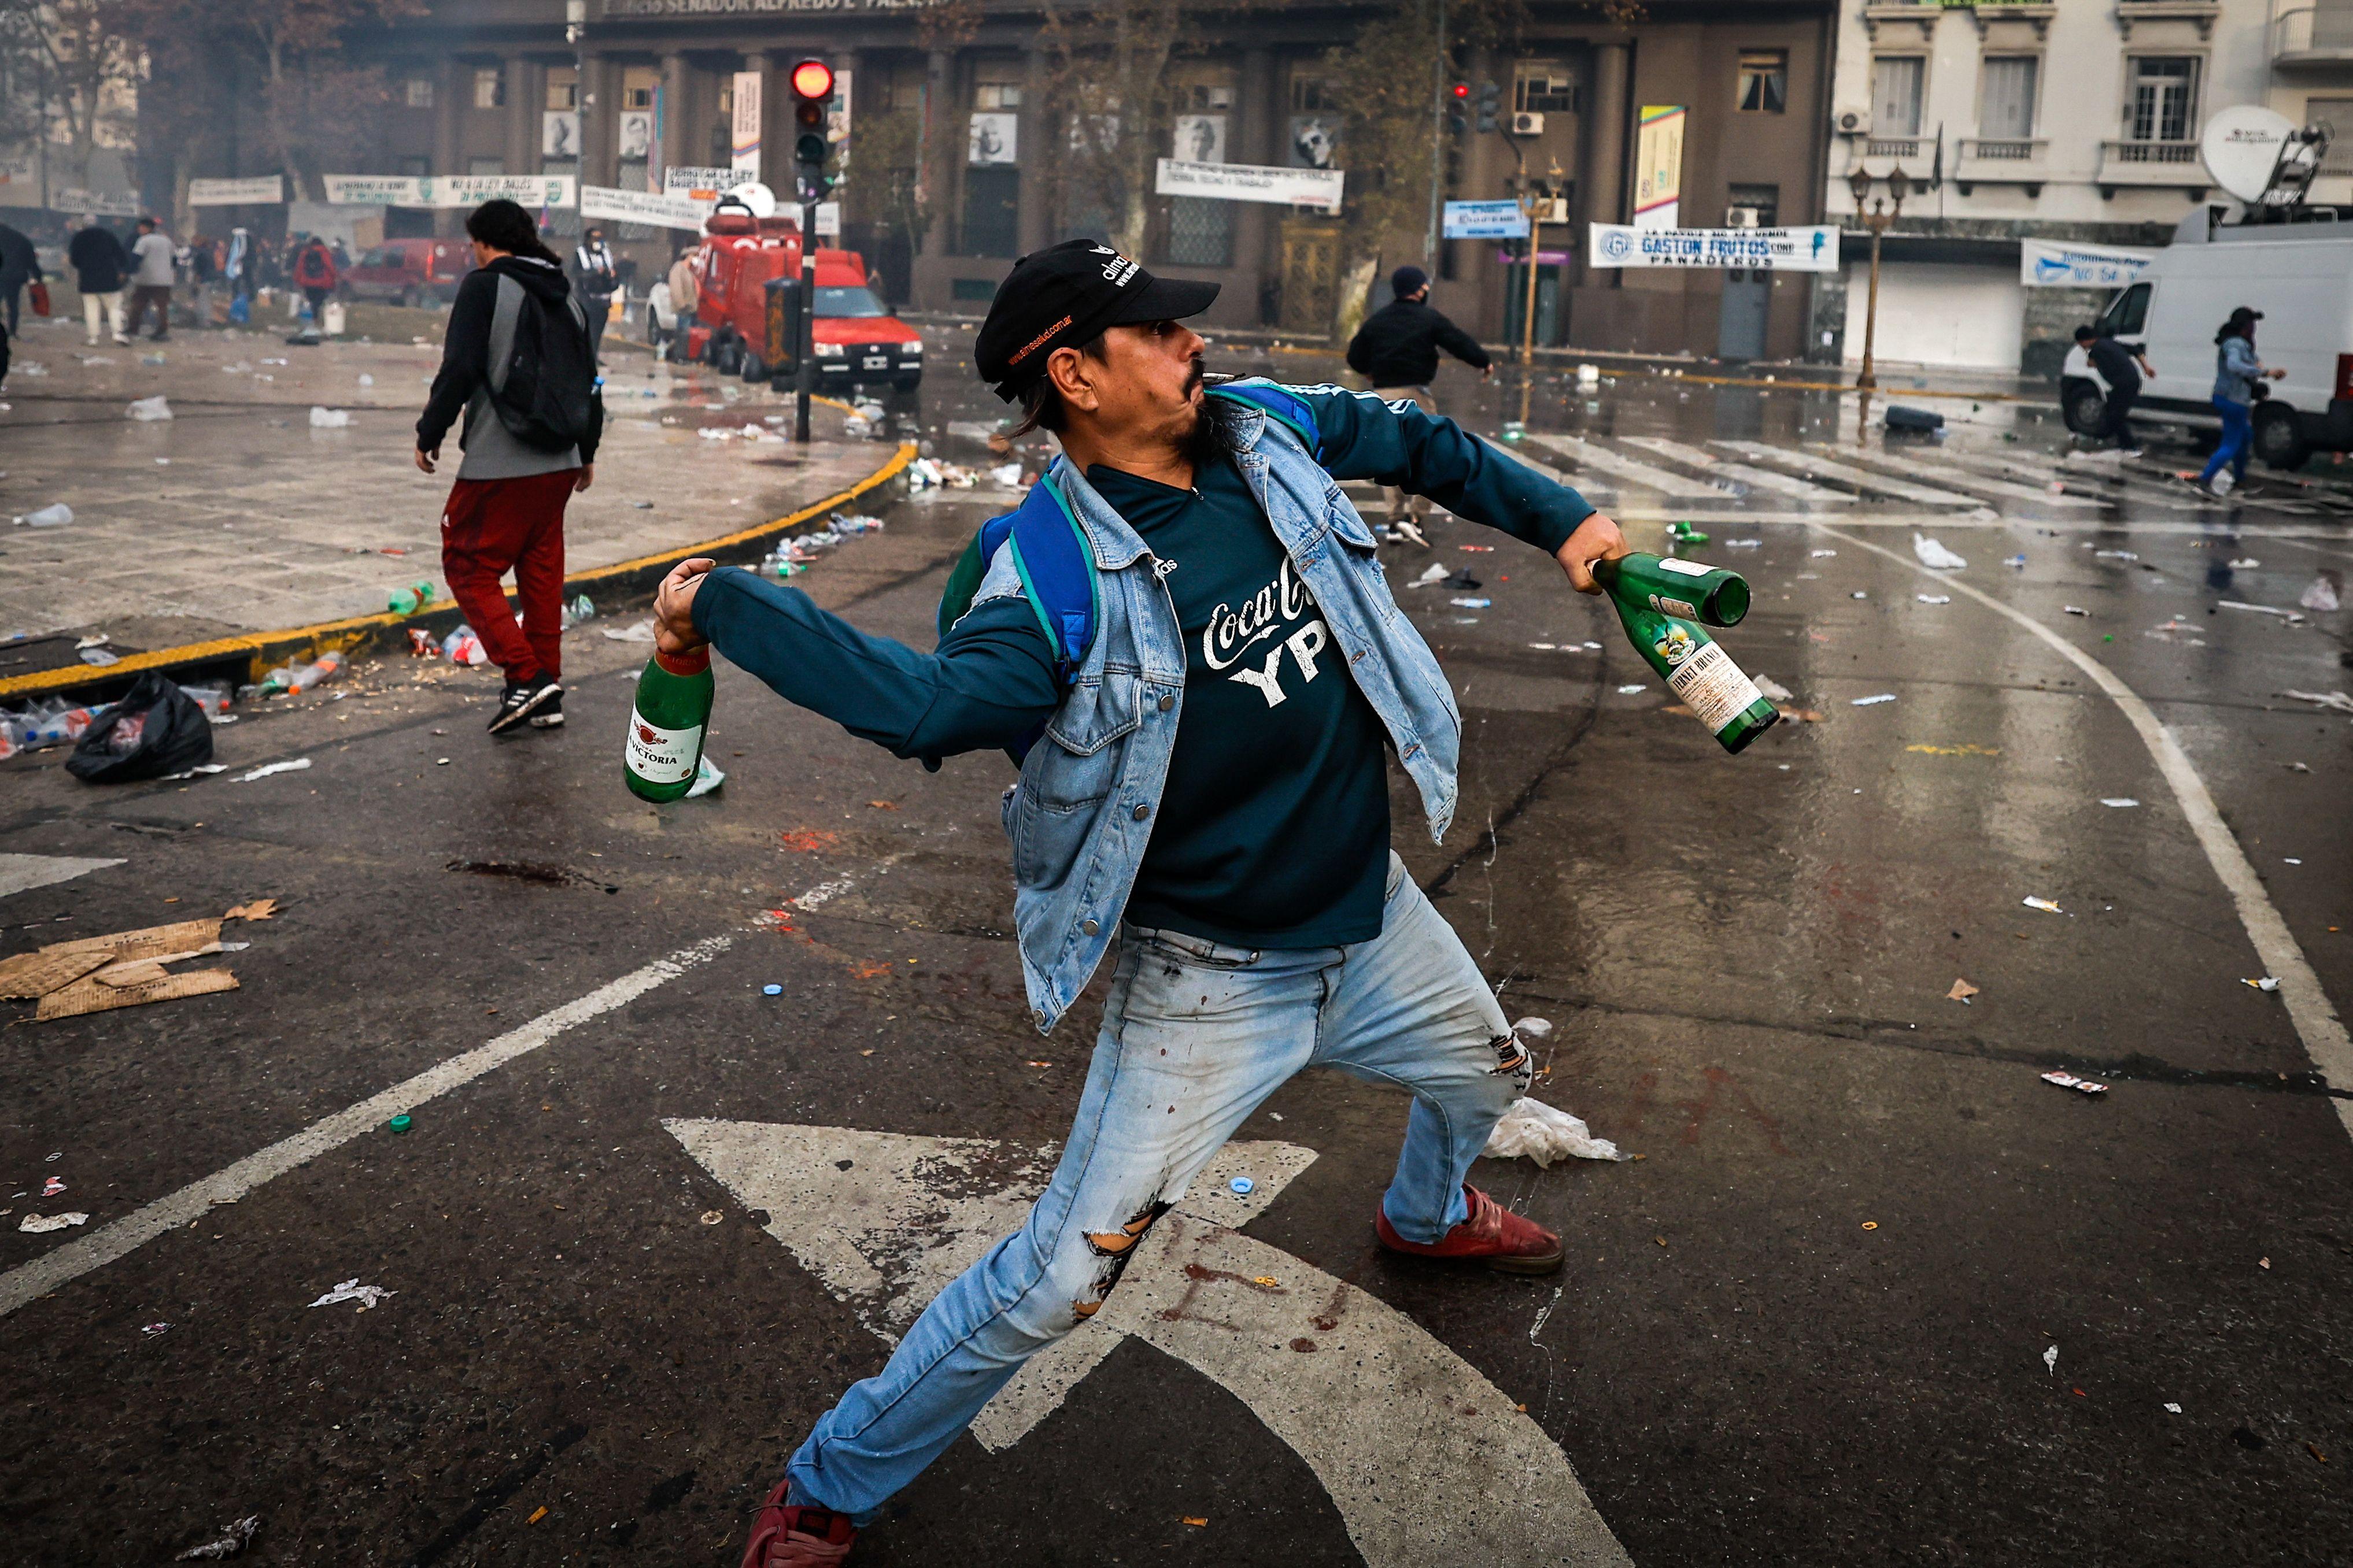
[[[2200,207],[2174,242],[2108,301],[2099,329],[2155,367],[2137,409],[2214,418],[2214,334],[2238,306],[2264,313],[2254,353],[2287,371],[2254,404],[2254,456],[2299,468],[2313,451],[2353,451],[2353,223],[2311,209],[2294,223],[2219,223]],[[2059,371],[2068,430],[2099,430],[2106,381],[2082,348]]]

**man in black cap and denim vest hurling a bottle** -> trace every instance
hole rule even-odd
[[[1021,757],[1005,825],[1040,1030],[1118,947],[1052,1185],[816,1422],[746,1568],[845,1561],[1028,1356],[1101,1309],[1151,1225],[1301,1067],[1414,1100],[1381,1246],[1560,1267],[1558,1237],[1464,1182],[1529,1058],[1388,849],[1388,755],[1442,835],[1461,717],[1334,480],[1431,496],[1558,557],[1584,592],[1626,543],[1577,491],[1412,402],[1205,388],[1184,317],[1214,296],[1087,240],[1014,266],[974,357],[1061,458],[960,574],[969,607],[951,581],[936,651],[708,559],[661,585],[666,651],[708,642],[899,757]]]

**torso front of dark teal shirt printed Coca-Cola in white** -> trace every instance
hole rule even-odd
[[[1231,458],[1193,489],[1094,465],[1087,482],[1167,564],[1184,724],[1127,919],[1240,947],[1381,933],[1388,766],[1315,599]]]

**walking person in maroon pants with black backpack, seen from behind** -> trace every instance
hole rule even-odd
[[[588,315],[515,202],[466,219],[475,270],[449,308],[442,367],[416,418],[416,468],[433,473],[459,411],[466,461],[442,510],[442,576],[506,672],[489,733],[553,729],[562,705],[565,501],[595,480],[605,404]],[[522,621],[499,578],[515,574]]]

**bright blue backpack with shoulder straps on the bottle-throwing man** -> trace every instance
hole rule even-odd
[[[1209,388],[1209,397],[1266,414],[1297,435],[1308,456],[1322,456],[1315,409],[1273,381],[1228,381]],[[1014,571],[1021,574],[1021,597],[1028,599],[1038,625],[1045,628],[1045,637],[1054,646],[1054,677],[1068,691],[1094,644],[1101,602],[1094,588],[1094,550],[1054,484],[1052,470],[1040,475],[1019,508],[984,522],[981,531],[965,545],[939,595],[939,635],[946,637],[948,628],[972,609],[972,597],[979,592],[981,578],[988,576],[988,562],[998,557],[1007,538],[1014,545]],[[1026,752],[1028,745],[1021,750]]]

